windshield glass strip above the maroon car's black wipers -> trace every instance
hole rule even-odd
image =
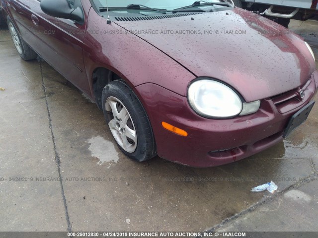
[[[106,0],[95,0],[106,7]],[[205,0],[207,2],[224,2],[223,0]],[[192,5],[195,0],[107,0],[108,7],[126,7],[129,4],[141,4],[152,8],[173,10],[176,8]],[[204,2],[201,2],[204,4]]]

